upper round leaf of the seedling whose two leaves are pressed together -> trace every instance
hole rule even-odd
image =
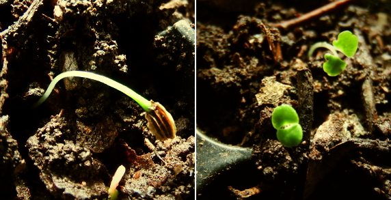
[[[271,113],[271,124],[273,124],[275,129],[280,129],[282,126],[286,126],[288,124],[298,123],[299,116],[297,115],[295,109],[287,104],[277,106],[273,113]]]

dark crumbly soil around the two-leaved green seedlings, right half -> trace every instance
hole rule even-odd
[[[198,1],[197,126],[254,153],[197,199],[391,198],[391,4],[346,1],[287,23],[327,3]],[[357,35],[358,51],[327,76],[327,50],[308,49],[341,31]],[[271,126],[280,104],[299,114],[297,147]]]

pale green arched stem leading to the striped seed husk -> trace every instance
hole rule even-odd
[[[149,100],[146,100],[146,98],[140,96],[139,94],[135,93],[132,89],[129,87],[126,87],[125,85],[122,85],[121,83],[118,83],[116,81],[111,80],[110,78],[107,78],[106,76],[102,76],[99,74],[94,74],[92,72],[84,72],[84,71],[69,71],[69,72],[63,72],[56,76],[53,81],[51,81],[48,89],[46,89],[46,92],[44,95],[31,106],[32,109],[35,109],[36,107],[40,106],[46,98],[49,97],[51,94],[51,91],[53,90],[55,84],[61,80],[62,78],[67,78],[71,76],[81,77],[81,78],[90,78],[95,81],[99,81],[101,83],[105,83],[106,85],[109,85],[110,87],[113,87],[115,89],[118,89],[119,91],[122,91],[124,94],[129,96],[130,98],[133,98],[145,111],[150,112],[150,109],[148,109],[150,106],[152,106],[152,103]]]

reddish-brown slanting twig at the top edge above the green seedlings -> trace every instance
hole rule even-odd
[[[327,5],[322,6],[321,8],[318,8],[316,10],[312,10],[311,12],[308,12],[307,14],[299,16],[298,18],[293,18],[291,20],[286,20],[286,21],[283,21],[281,23],[275,23],[275,24],[272,24],[272,26],[273,27],[287,29],[291,25],[297,25],[297,24],[302,23],[302,22],[304,22],[306,20],[310,20],[311,18],[314,18],[316,16],[324,14],[325,12],[329,12],[330,10],[333,10],[333,9],[337,8],[338,6],[340,6],[340,5],[344,5],[345,3],[348,3],[349,1],[353,1],[353,0],[334,1],[332,3],[329,3]]]

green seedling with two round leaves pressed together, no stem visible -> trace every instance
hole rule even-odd
[[[271,113],[271,124],[277,129],[277,139],[285,147],[297,146],[303,139],[303,130],[295,109],[287,104],[277,106]]]

